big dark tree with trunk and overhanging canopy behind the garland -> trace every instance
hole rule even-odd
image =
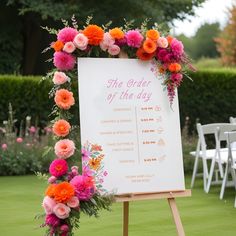
[[[170,23],[173,19],[184,19],[194,15],[194,7],[199,7],[205,0],[6,0],[7,5],[19,10],[19,20],[23,27],[23,74],[37,73],[37,60],[42,42],[47,46],[49,41],[40,29],[42,25],[54,27],[59,20],[70,19],[73,14],[79,19],[80,26],[84,25],[88,15],[93,15],[97,24],[105,24],[112,20],[114,26],[123,24],[123,18],[135,19],[140,24],[145,18],[153,22]],[[42,58],[41,58],[42,59]],[[42,71],[44,72],[44,71]]]

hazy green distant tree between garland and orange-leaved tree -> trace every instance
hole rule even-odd
[[[178,38],[183,41],[185,51],[191,58],[215,58],[219,56],[215,43],[215,38],[219,33],[219,23],[206,23],[198,29],[195,36],[189,38],[182,34]]]

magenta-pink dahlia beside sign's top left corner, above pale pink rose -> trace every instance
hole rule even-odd
[[[53,64],[59,70],[71,70],[75,66],[75,57],[66,52],[55,52]]]

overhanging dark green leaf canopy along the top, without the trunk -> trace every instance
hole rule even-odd
[[[29,12],[39,14],[42,19],[61,18],[70,19],[73,14],[85,19],[93,15],[98,24],[112,20],[121,25],[123,18],[139,19],[152,18],[153,21],[170,22],[173,19],[184,19],[186,14],[194,15],[194,7],[198,7],[204,0],[105,0],[98,4],[95,0],[81,1],[56,1],[56,0],[8,0],[8,5],[18,4],[19,13],[24,15]],[[119,10],[118,10],[119,9]],[[139,21],[138,20],[138,21]],[[139,22],[140,23],[140,22]]]

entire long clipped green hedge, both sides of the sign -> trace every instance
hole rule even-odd
[[[193,82],[185,79],[180,87],[180,119],[190,118],[189,131],[195,130],[196,119],[202,124],[228,122],[236,116],[236,70],[201,70],[190,75]],[[53,99],[48,99],[50,82],[39,82],[40,77],[0,76],[0,121],[7,119],[8,103],[11,102],[15,117],[24,120],[31,115],[45,125]],[[77,84],[73,85],[77,94]],[[78,96],[75,96],[76,99]],[[78,123],[78,100],[73,108],[74,122]]]

